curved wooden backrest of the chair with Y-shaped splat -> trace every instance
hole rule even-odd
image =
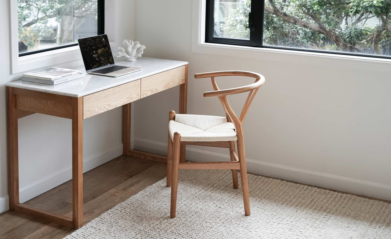
[[[215,81],[216,76],[248,76],[248,77],[255,78],[255,82],[252,83],[251,85],[220,90]],[[222,106],[224,107],[227,120],[234,124],[235,129],[237,131],[238,140],[242,141],[243,140],[242,124],[244,118],[246,117],[248,108],[250,107],[250,104],[253,101],[256,92],[258,92],[259,87],[261,87],[265,83],[264,76],[250,71],[214,71],[214,72],[194,74],[194,78],[207,78],[207,77],[210,77],[212,79],[212,85],[214,90],[204,92],[204,97],[215,97],[215,96],[219,97]],[[240,113],[240,117],[238,118],[235,112],[233,112],[230,103],[228,102],[227,96],[244,93],[248,91],[249,91],[248,97],[246,99],[246,102],[244,103],[242,112]]]

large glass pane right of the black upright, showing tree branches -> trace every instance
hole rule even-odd
[[[265,0],[265,45],[391,55],[389,0]]]

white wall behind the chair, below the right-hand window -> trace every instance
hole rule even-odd
[[[237,69],[265,76],[244,121],[249,172],[391,200],[391,64],[192,53],[191,26],[191,0],[136,1],[135,37],[147,46],[144,55],[189,62],[188,113],[224,115],[218,99],[202,96],[212,90],[210,80],[195,80],[194,73]],[[251,80],[220,82],[224,88]],[[135,103],[136,149],[167,152],[168,113],[178,110],[178,90]],[[233,108],[239,111],[245,97],[231,97]],[[194,161],[228,158],[226,149],[187,150]]]

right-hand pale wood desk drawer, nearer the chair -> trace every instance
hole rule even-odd
[[[141,79],[141,98],[185,83],[185,66]]]

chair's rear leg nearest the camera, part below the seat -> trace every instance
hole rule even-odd
[[[244,214],[246,216],[250,216],[250,197],[248,194],[247,167],[246,167],[246,156],[244,154],[244,143],[238,140],[237,146],[238,146],[238,158],[240,164],[240,181],[242,183]]]

